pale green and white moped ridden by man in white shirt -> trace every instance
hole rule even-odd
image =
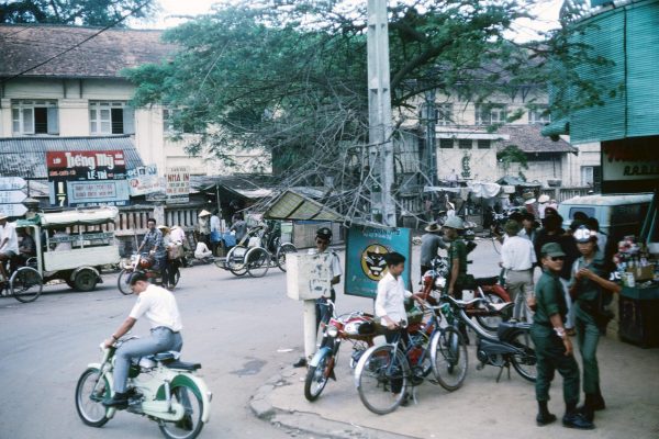
[[[113,395],[113,365],[116,348],[136,337],[120,339],[116,347],[101,345],[100,363],[90,363],[76,385],[76,409],[86,425],[100,428],[116,414],[102,402]],[[212,394],[197,375],[199,363],[179,360],[179,352],[143,357],[131,364],[126,412],[156,421],[169,439],[193,439],[209,421]]]

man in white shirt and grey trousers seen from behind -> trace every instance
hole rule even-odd
[[[505,270],[505,284],[511,299],[515,303],[513,318],[528,320],[530,308],[526,301],[533,295],[533,267],[536,255],[529,239],[521,237],[520,223],[509,221],[505,232],[509,238],[501,247],[501,267]]]

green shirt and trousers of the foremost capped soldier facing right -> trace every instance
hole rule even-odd
[[[536,347],[537,380],[536,399],[549,401],[549,386],[556,370],[563,378],[563,398],[566,404],[579,402],[579,365],[574,356],[566,356],[562,339],[554,330],[549,317],[559,314],[565,323],[568,306],[563,288],[558,274],[544,270],[535,288],[536,313],[533,317],[530,337]]]

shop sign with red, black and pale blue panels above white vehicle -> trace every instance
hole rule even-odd
[[[126,161],[121,150],[47,151],[46,167],[52,205],[129,203]]]

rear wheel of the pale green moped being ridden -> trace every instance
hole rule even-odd
[[[183,406],[186,414],[177,421],[160,420],[158,427],[169,439],[192,439],[203,428],[203,401],[194,384],[178,384],[171,389],[171,401]]]

